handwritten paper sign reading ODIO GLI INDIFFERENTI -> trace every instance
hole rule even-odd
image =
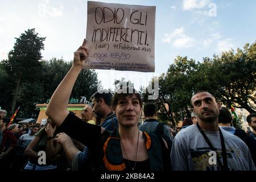
[[[88,1],[83,68],[155,72],[155,6]]]

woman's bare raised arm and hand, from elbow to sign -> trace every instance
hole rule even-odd
[[[60,82],[59,86],[57,86],[47,106],[46,114],[57,126],[60,126],[61,123],[63,123],[69,113],[67,109],[69,97],[71,96],[76,79],[82,70],[82,61],[85,60],[89,54],[88,49],[85,47],[85,43],[86,40],[84,39],[82,46],[74,52],[73,65]]]

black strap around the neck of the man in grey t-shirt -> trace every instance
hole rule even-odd
[[[214,148],[212,146],[212,143],[210,143],[209,138],[207,137],[207,135],[204,133],[204,131],[201,129],[201,127],[199,126],[199,123],[196,123],[197,128],[199,129],[200,133],[203,135],[205,141],[208,143],[210,150],[214,151]],[[224,142],[224,137],[222,135],[221,129],[220,127],[218,128],[218,131],[220,132],[220,139],[221,139],[221,151],[222,151],[222,158],[223,158],[223,163],[221,163],[220,158],[218,158],[217,156],[217,162],[221,168],[221,171],[228,171],[228,159],[227,159],[227,155],[226,155],[226,147],[225,147],[225,142]]]

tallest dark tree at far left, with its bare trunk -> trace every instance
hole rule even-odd
[[[44,49],[44,40],[35,32],[35,28],[28,29],[19,38],[15,38],[14,48],[9,52],[9,59],[3,60],[3,67],[9,76],[9,81],[13,83],[11,90],[13,101],[11,102],[11,113],[14,113],[20,84],[22,82],[34,82],[40,71],[42,59],[41,51]]]

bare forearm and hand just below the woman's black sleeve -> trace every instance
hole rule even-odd
[[[76,148],[72,139],[65,133],[57,134],[55,140],[63,146],[67,160],[69,164],[71,164],[73,158],[75,157],[77,152],[79,152],[79,149]]]

